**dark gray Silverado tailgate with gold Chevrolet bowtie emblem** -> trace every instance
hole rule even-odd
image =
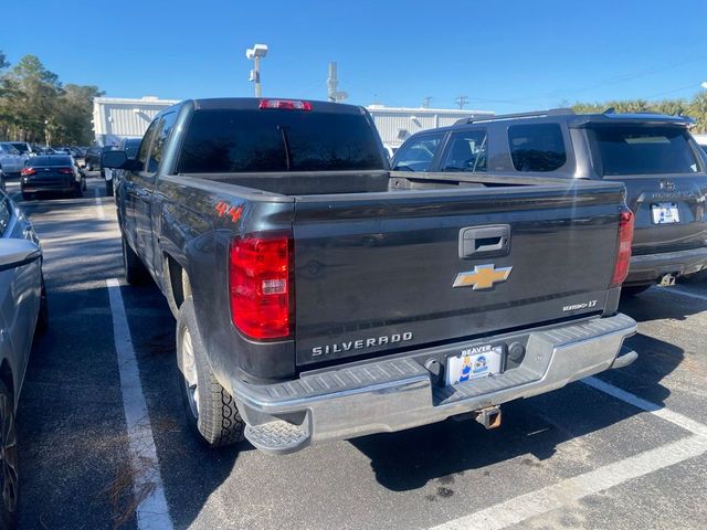
[[[296,197],[297,364],[602,312],[623,190],[583,181]]]

